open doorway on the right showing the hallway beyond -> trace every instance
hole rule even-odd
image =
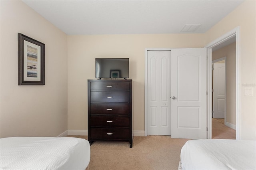
[[[231,42],[212,52],[212,139],[236,139],[235,51],[236,43]]]

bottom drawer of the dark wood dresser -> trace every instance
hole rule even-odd
[[[91,128],[91,139],[129,139],[129,128]]]

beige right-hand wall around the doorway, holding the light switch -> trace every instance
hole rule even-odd
[[[241,139],[256,140],[256,1],[245,1],[206,32],[207,43],[240,26],[240,122]],[[245,87],[252,87],[254,96],[245,96]]]

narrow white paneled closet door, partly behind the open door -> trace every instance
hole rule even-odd
[[[147,52],[147,130],[149,135],[171,135],[171,51]]]

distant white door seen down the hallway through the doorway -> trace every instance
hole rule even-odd
[[[213,118],[225,117],[225,63],[213,63]]]

